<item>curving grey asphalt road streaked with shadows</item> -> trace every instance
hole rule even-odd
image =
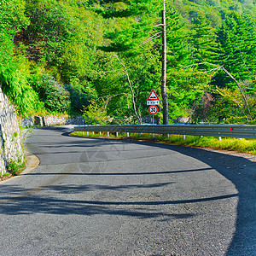
[[[0,255],[256,255],[255,157],[68,131],[0,183]]]

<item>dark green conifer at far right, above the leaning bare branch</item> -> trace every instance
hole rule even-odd
[[[253,24],[236,12],[226,15],[223,26],[218,31],[218,43],[218,65],[223,65],[237,81],[253,81],[256,74],[256,37]],[[219,74],[216,82],[220,86],[236,86],[225,74]]]

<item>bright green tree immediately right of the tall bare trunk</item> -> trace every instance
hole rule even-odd
[[[208,45],[209,41],[212,42],[213,37],[207,35],[201,39],[199,32],[189,29],[181,15],[178,15],[172,6],[167,7],[169,116],[172,119],[177,119],[181,116],[191,116],[193,109],[201,102],[201,97],[207,88],[209,75],[203,70],[194,70],[188,67],[193,63],[206,61],[206,59],[201,59],[201,56],[208,57],[210,55],[207,54],[212,49],[209,49]],[[199,25],[197,28],[200,30]],[[211,40],[206,38],[211,38]]]

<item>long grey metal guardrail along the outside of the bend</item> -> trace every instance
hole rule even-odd
[[[74,131],[256,138],[256,125],[84,125],[74,127]]]

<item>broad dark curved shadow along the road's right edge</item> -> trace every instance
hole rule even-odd
[[[144,143],[152,144],[152,143]],[[256,255],[256,162],[245,154],[224,154],[213,150],[154,143],[206,163],[238,190],[236,232],[227,255]]]

